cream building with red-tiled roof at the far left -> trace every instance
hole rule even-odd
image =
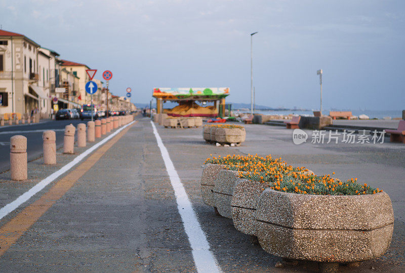
[[[46,113],[49,90],[44,77],[39,81],[38,60],[41,69],[48,69],[49,73],[45,64],[49,59],[38,56],[38,48],[23,34],[0,30],[0,114],[32,110]]]

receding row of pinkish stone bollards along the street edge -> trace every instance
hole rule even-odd
[[[77,147],[86,147],[86,141],[94,142],[112,129],[126,125],[134,120],[133,115],[113,116],[86,124],[79,123],[77,128],[73,125],[66,125],[63,137],[63,153],[74,153],[74,134],[77,130]],[[56,134],[48,130],[42,135],[44,164],[56,164]],[[27,175],[27,138],[16,135],[10,138],[10,172],[11,180],[26,180]]]

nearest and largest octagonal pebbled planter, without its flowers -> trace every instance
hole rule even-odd
[[[355,262],[384,254],[393,222],[391,200],[385,192],[315,196],[267,188],[257,205],[255,235],[262,248],[276,256]]]

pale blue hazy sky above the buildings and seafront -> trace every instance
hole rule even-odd
[[[154,87],[229,87],[229,102],[405,109],[403,0],[0,0],[4,30],[113,73],[147,103]]]

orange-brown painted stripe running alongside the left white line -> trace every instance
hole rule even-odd
[[[134,122],[130,123],[132,125]],[[128,125],[128,126],[129,126]],[[41,217],[53,204],[56,203],[64,194],[76,183],[76,181],[87,173],[90,168],[111,148],[130,127],[125,126],[114,133],[114,138],[105,145],[96,150],[82,164],[77,166],[73,171],[55,183],[41,198],[34,203],[25,207],[13,219],[0,228],[0,256],[2,256],[23,234]],[[118,134],[119,133],[119,134]],[[111,135],[112,136],[112,135]],[[105,142],[103,142],[105,143]],[[96,146],[96,145],[94,145]],[[93,146],[93,147],[94,147]],[[99,145],[100,146],[100,145]]]

